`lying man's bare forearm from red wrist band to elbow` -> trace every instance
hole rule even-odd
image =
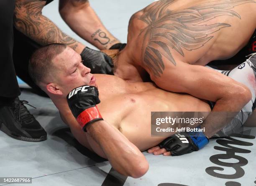
[[[89,125],[87,131],[100,145],[116,171],[133,178],[146,173],[148,163],[145,156],[116,128],[105,121],[98,121]]]

